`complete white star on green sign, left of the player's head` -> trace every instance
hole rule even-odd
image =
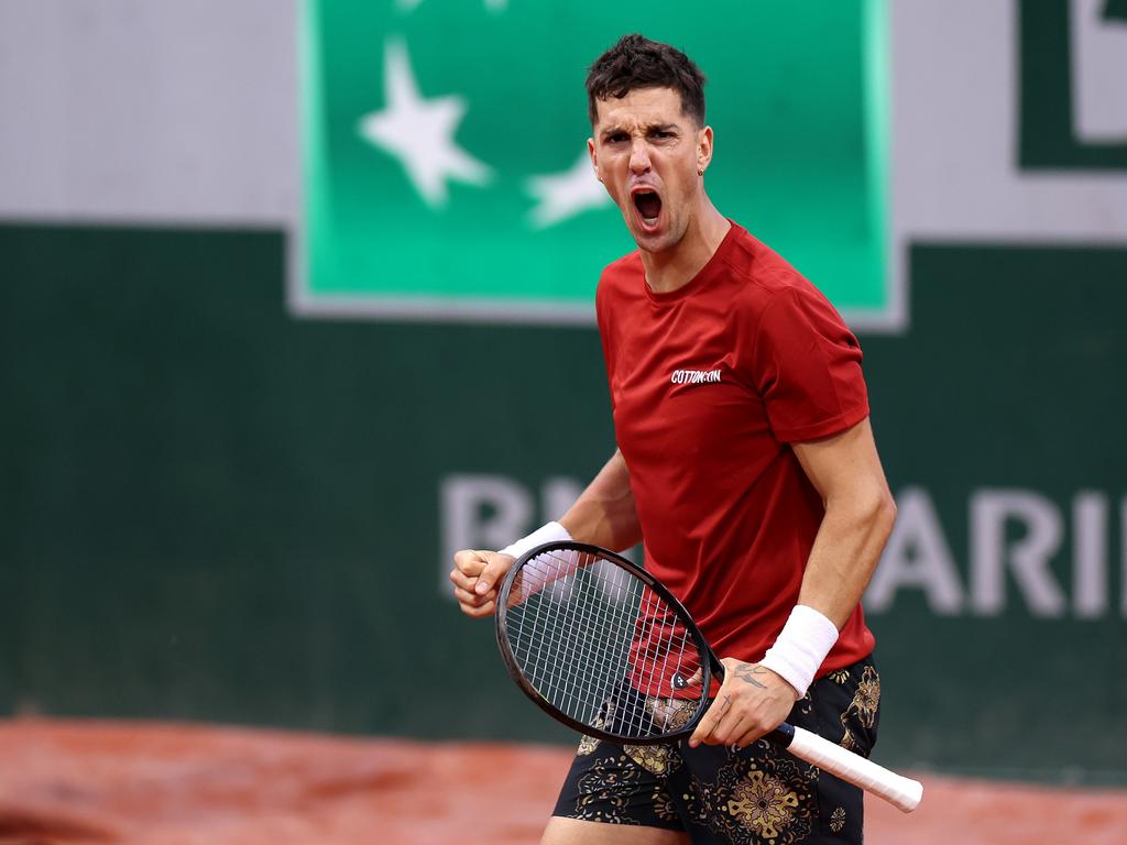
[[[465,100],[453,95],[424,99],[402,43],[389,41],[383,59],[385,105],[361,118],[361,135],[399,159],[431,207],[445,205],[449,179],[488,184],[489,168],[454,142]]]

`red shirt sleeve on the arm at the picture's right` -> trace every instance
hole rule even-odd
[[[861,345],[813,286],[788,287],[767,303],[751,363],[783,443],[840,434],[869,416]]]

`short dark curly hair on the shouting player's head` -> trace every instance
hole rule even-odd
[[[681,110],[704,125],[704,74],[676,47],[645,36],[623,35],[587,73],[587,116],[598,121],[597,100],[622,98],[638,88],[672,88],[681,94]]]

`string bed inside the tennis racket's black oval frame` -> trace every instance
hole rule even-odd
[[[623,739],[669,733],[704,694],[674,692],[675,677],[683,684],[700,669],[698,646],[676,614],[598,555],[552,551],[525,562],[504,613],[509,651],[527,682],[589,728]]]

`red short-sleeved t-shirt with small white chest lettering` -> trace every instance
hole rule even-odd
[[[788,444],[869,415],[857,338],[735,223],[686,285],[654,293],[635,251],[603,272],[596,305],[646,567],[720,657],[760,660],[798,603],[824,514]],[[818,674],[872,646],[858,605]]]

